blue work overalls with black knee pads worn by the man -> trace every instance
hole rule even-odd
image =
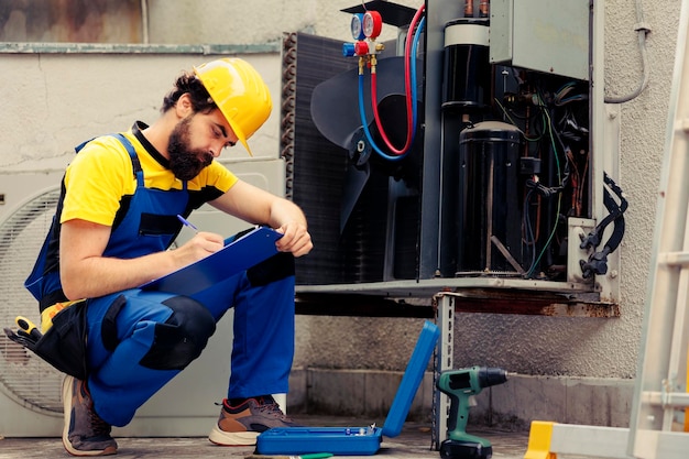
[[[133,146],[116,136],[129,151],[138,185],[103,255],[127,259],[166,250],[181,228],[176,215],[189,212],[186,183],[182,190],[145,188]],[[160,222],[165,227],[175,220],[173,231],[160,230]],[[294,258],[280,253],[194,298],[139,288],[89,298],[88,387],[98,415],[113,426],[127,425],[200,354],[230,307],[234,336],[228,398],[286,393],[294,354]]]

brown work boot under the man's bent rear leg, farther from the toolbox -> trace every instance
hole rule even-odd
[[[111,427],[94,409],[86,381],[66,376],[63,382],[65,428],[63,445],[72,456],[108,456],[118,450]]]

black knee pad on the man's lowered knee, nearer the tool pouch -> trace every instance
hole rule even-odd
[[[186,296],[163,304],[173,314],[164,324],[156,324],[153,345],[139,363],[153,370],[182,370],[206,348],[216,320],[204,305]]]

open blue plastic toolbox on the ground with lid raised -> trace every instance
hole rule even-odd
[[[336,456],[375,455],[381,447],[383,436],[396,437],[402,431],[439,336],[438,327],[426,320],[382,428],[375,425],[272,428],[259,435],[256,452],[261,455],[313,452],[331,452]]]

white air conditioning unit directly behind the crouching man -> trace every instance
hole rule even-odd
[[[283,195],[282,160],[233,162],[228,167],[241,179]],[[14,318],[39,323],[36,300],[23,283],[51,226],[63,171],[0,175],[0,326],[15,328]],[[248,223],[204,206],[190,217],[200,229],[230,236]],[[181,233],[178,241],[184,242]],[[205,436],[217,422],[227,396],[232,349],[231,312],[218,324],[199,359],[169,382],[114,436]],[[57,437],[63,429],[61,386],[64,374],[0,336],[0,437]],[[284,405],[284,403],[283,403]]]

